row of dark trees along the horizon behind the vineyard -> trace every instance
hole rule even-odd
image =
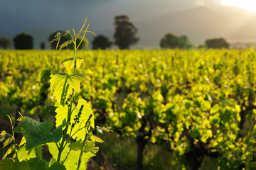
[[[63,33],[63,30],[58,30],[52,34],[50,34],[48,41],[53,40],[54,35],[56,33]],[[97,35],[94,40],[92,40],[92,49],[107,49],[111,48],[112,45],[117,45],[119,49],[129,49],[131,45],[135,45],[139,42],[139,37],[137,37],[138,29],[134,24],[129,21],[128,16],[115,16],[114,18],[114,42],[109,40],[105,35]],[[68,35],[67,35],[68,36]],[[69,37],[64,37],[61,42],[65,42],[68,40]],[[19,33],[13,39],[14,48],[17,50],[29,50],[33,49],[33,37],[32,35],[28,35],[26,33]],[[11,44],[11,39],[5,36],[0,38],[0,47],[3,49],[7,49]],[[88,47],[88,40],[84,40],[80,49],[87,49]],[[40,44],[41,50],[44,50],[46,47],[45,42],[41,42]],[[55,43],[50,44],[51,49],[55,49]],[[166,48],[182,48],[182,49],[189,49],[192,48],[193,45],[188,41],[188,36],[181,35],[176,36],[171,33],[166,33],[163,38],[160,40],[160,47],[163,49]],[[198,48],[206,47],[206,48],[228,48],[229,44],[223,38],[213,38],[206,40],[204,45],[199,45]],[[72,49],[71,45],[65,47],[65,49]]]

